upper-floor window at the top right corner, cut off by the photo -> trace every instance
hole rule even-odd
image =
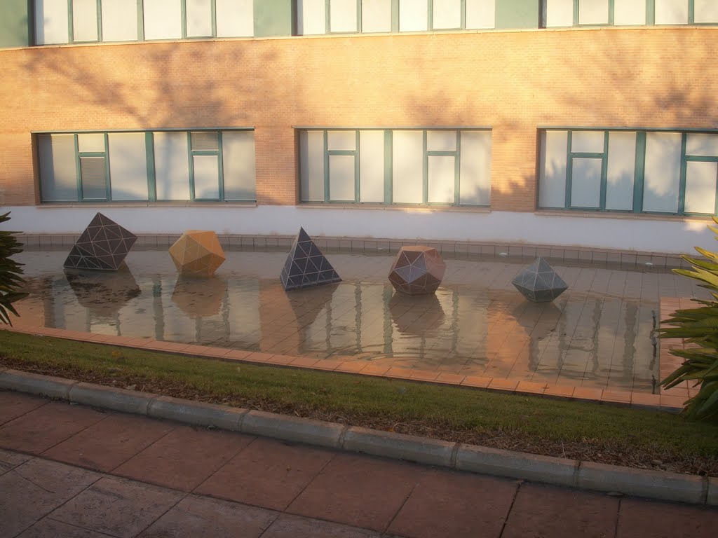
[[[715,0],[544,0],[544,27],[718,24]]]

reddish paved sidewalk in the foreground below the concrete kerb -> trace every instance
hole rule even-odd
[[[714,538],[718,509],[0,391],[0,537]]]

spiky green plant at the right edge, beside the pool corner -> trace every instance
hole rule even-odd
[[[718,224],[717,217],[713,221]],[[718,236],[718,227],[709,228]],[[658,329],[658,336],[681,338],[693,346],[671,349],[671,354],[684,362],[661,385],[666,389],[685,381],[700,385],[699,392],[686,401],[683,412],[690,418],[718,420],[718,253],[701,247],[696,250],[704,259],[684,255],[682,258],[693,268],[673,269],[673,273],[699,280],[701,287],[711,291],[714,300],[697,301],[702,306],[677,310],[662,321],[670,326]]]

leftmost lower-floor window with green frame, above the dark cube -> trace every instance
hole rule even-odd
[[[41,133],[42,202],[255,199],[253,131]]]

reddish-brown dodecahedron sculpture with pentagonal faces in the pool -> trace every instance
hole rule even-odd
[[[446,264],[433,247],[401,247],[389,272],[389,282],[396,291],[407,295],[424,295],[437,291],[444,278]]]

